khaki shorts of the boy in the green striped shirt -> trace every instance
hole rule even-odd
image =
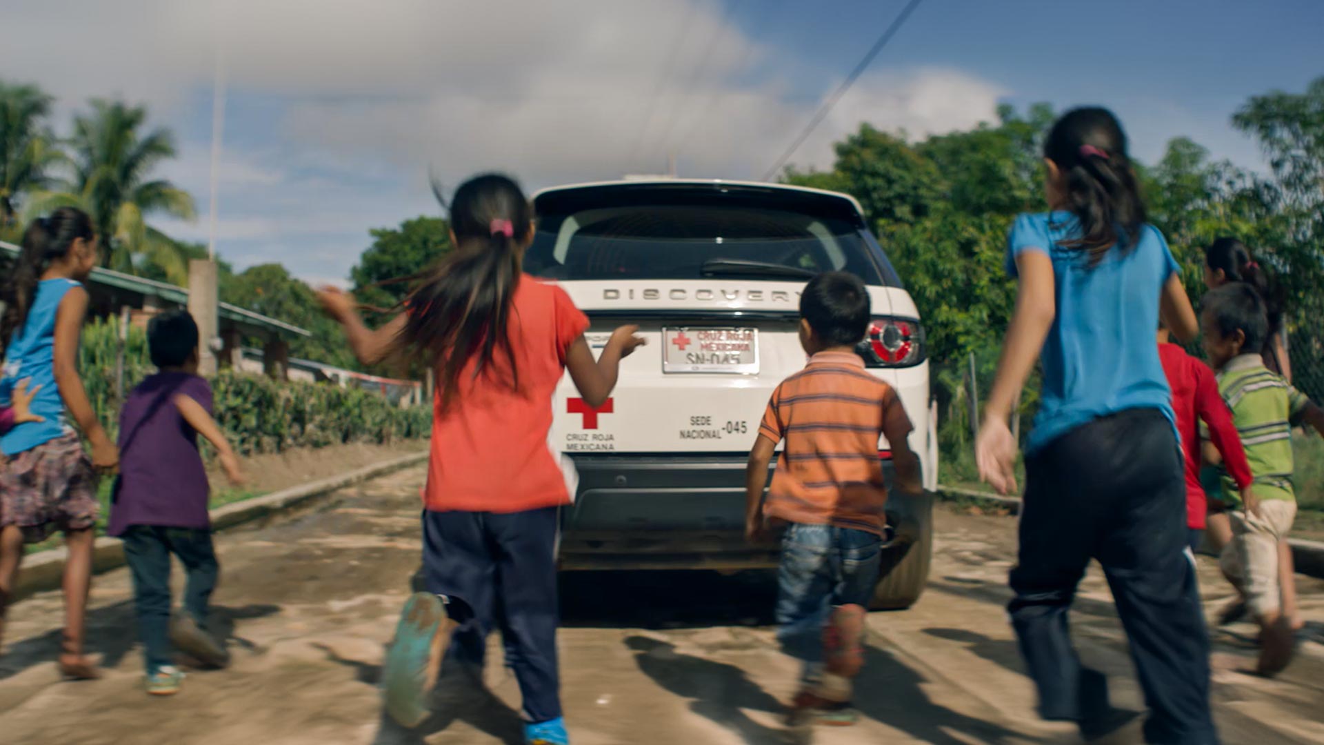
[[[1282,608],[1278,577],[1278,542],[1292,530],[1296,502],[1263,500],[1263,517],[1245,510],[1229,512],[1233,541],[1223,546],[1219,565],[1246,594],[1246,607],[1256,616]]]

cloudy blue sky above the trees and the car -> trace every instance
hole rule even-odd
[[[225,117],[217,251],[343,284],[371,228],[438,215],[429,175],[502,170],[528,191],[663,172],[757,179],[904,0],[0,0],[0,78],[144,103],[160,168],[209,235],[217,60]],[[1263,170],[1229,118],[1324,74],[1317,0],[925,0],[796,152],[871,122],[912,138],[1000,103],[1102,103],[1133,155],[1188,135]]]

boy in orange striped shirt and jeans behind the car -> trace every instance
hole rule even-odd
[[[919,492],[912,427],[896,391],[865,370],[855,345],[869,329],[869,293],[826,272],[800,297],[800,343],[809,365],[772,392],[745,479],[745,533],[759,541],[785,524],[777,571],[777,638],[804,660],[790,724],[849,725],[851,679],[863,663],[865,608],[878,583],[887,518],[878,437],[892,448],[896,485]],[[768,463],[779,443],[768,496]]]

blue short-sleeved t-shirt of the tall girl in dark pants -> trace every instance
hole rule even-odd
[[[1157,228],[1145,225],[1131,252],[1113,247],[1091,269],[1087,252],[1058,244],[1079,232],[1070,212],[1045,212],[1017,217],[1008,237],[1006,265],[1013,277],[1022,252],[1039,251],[1053,260],[1057,300],[1041,357],[1039,414],[1026,453],[1082,424],[1131,408],[1157,408],[1176,422],[1155,341],[1162,286],[1178,270],[1168,241]]]

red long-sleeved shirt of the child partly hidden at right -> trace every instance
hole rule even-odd
[[[1204,529],[1209,502],[1200,485],[1200,420],[1209,426],[1209,439],[1222,453],[1223,465],[1238,487],[1251,483],[1250,464],[1233,415],[1218,395],[1214,371],[1173,343],[1158,345],[1158,359],[1172,388],[1172,410],[1186,456],[1186,526]]]

